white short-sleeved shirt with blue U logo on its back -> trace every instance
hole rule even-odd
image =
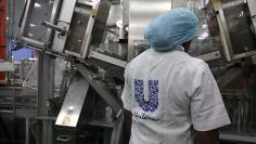
[[[128,64],[125,79],[130,144],[192,144],[192,126],[208,131],[230,123],[207,64],[182,51],[146,50]]]

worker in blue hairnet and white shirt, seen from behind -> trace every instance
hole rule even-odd
[[[217,144],[230,123],[218,86],[205,62],[187,54],[199,19],[172,9],[145,30],[151,49],[125,70],[121,95],[129,144]]]

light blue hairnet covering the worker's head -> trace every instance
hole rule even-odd
[[[155,51],[171,51],[192,39],[196,32],[196,15],[183,8],[172,9],[154,18],[145,29],[145,39]]]

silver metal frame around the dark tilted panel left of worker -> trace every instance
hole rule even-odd
[[[64,0],[57,25],[65,27],[67,31],[69,30],[71,22],[74,15],[74,11],[76,9],[76,3],[80,3],[86,6],[89,6],[91,9],[90,10],[91,13],[89,15],[89,21],[87,24],[86,32],[84,34],[84,39],[82,39],[82,43],[81,43],[79,52],[73,52],[71,50],[66,50],[65,43],[68,36],[65,35],[65,36],[60,37],[57,34],[55,34],[54,39],[53,39],[53,50],[56,50],[59,52],[64,52],[66,54],[69,54],[79,58],[86,58],[88,56],[89,47],[92,40],[94,23],[98,19],[98,14],[99,14],[102,2],[106,2],[106,1],[102,0],[100,2],[89,2],[89,1],[81,1],[81,0],[79,1]]]

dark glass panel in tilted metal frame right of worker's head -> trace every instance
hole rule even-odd
[[[225,9],[223,13],[234,55],[255,51],[256,41],[247,4]]]

